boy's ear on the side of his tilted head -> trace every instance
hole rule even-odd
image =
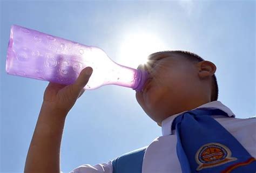
[[[208,78],[212,77],[215,73],[217,67],[210,61],[200,61],[197,64],[198,67],[198,76],[199,78]]]

